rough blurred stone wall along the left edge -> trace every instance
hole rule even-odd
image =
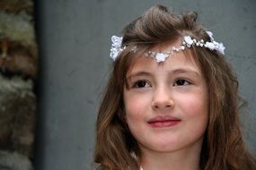
[[[0,169],[31,170],[37,77],[32,0],[0,1]]]

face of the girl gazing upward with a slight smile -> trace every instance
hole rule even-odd
[[[152,50],[167,52],[172,45]],[[208,96],[206,81],[192,56],[174,53],[161,64],[142,56],[127,79],[126,121],[142,153],[200,151],[207,128]]]

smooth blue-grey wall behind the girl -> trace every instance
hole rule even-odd
[[[96,111],[111,64],[110,37],[153,4],[197,11],[225,44],[241,94],[250,104],[243,116],[244,134],[256,153],[255,0],[41,0],[37,170],[90,169]]]

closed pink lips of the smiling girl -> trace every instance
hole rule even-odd
[[[180,122],[181,122],[181,119],[179,118],[176,118],[170,115],[164,115],[164,116],[156,116],[153,119],[150,119],[147,123],[149,123],[150,126],[154,128],[163,128],[163,127],[174,126]]]

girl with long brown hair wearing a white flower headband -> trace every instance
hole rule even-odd
[[[112,37],[97,118],[102,170],[256,169],[238,120],[238,82],[196,13],[150,8]]]

